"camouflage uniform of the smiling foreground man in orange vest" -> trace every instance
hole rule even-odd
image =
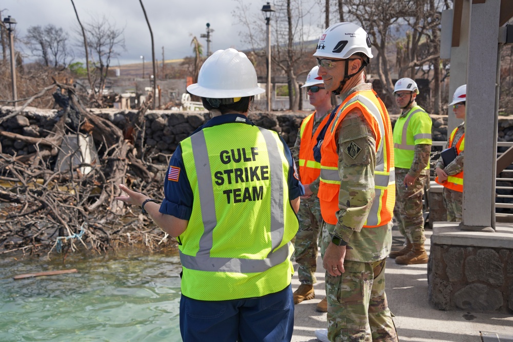
[[[369,87],[370,84],[360,84],[341,97]],[[376,137],[358,111],[345,116],[337,135],[339,151],[346,151],[351,143],[362,150],[354,159],[339,152],[338,224],[323,224],[323,258],[331,242],[330,234],[348,242],[345,272],[341,276],[326,272],[328,338],[394,342],[398,340],[397,332],[385,294],[385,261],[392,242],[392,223],[362,229],[374,200]]]

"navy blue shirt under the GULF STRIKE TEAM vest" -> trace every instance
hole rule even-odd
[[[224,114],[211,118],[205,125],[196,129],[192,134],[207,127],[234,122],[254,125],[245,115]],[[297,173],[297,170],[295,170],[295,163],[292,158],[292,154],[290,153],[290,149],[281,136],[280,140],[284,146],[285,156],[287,157],[289,163],[289,199],[294,199],[304,195],[305,189],[299,180],[294,177],[294,173]],[[176,180],[169,180],[169,178]],[[163,214],[168,214],[177,218],[188,220],[191,217],[193,200],[194,198],[191,185],[189,183],[189,178],[187,178],[184,161],[182,159],[182,148],[181,145],[179,145],[176,148],[176,151],[174,151],[173,156],[169,162],[168,174],[164,180],[164,200],[159,211]]]

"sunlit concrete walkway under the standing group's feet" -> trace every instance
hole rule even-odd
[[[426,230],[426,249],[430,246],[430,236],[431,230]],[[393,230],[393,244],[402,244],[396,229]],[[317,271],[315,299],[295,306],[292,341],[318,341],[315,330],[327,327],[326,314],[315,311],[315,305],[325,296],[324,269],[320,255]],[[481,342],[481,332],[498,333],[501,337],[487,339],[490,342],[513,340],[513,315],[440,311],[433,308],[427,299],[427,264],[402,266],[389,258],[385,274],[388,305],[396,316],[394,323],[401,342]],[[298,276],[294,274],[292,289],[298,286]],[[510,339],[505,339],[505,336]]]

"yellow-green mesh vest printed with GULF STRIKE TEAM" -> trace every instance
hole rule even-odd
[[[289,202],[293,170],[279,135],[227,123],[196,132],[181,149],[194,196],[180,235],[182,293],[228,300],[286,288],[299,223]]]

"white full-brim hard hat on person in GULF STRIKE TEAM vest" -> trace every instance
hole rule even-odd
[[[262,94],[257,72],[248,57],[235,49],[215,51],[207,58],[198,74],[198,83],[187,91],[208,98],[233,98]]]

